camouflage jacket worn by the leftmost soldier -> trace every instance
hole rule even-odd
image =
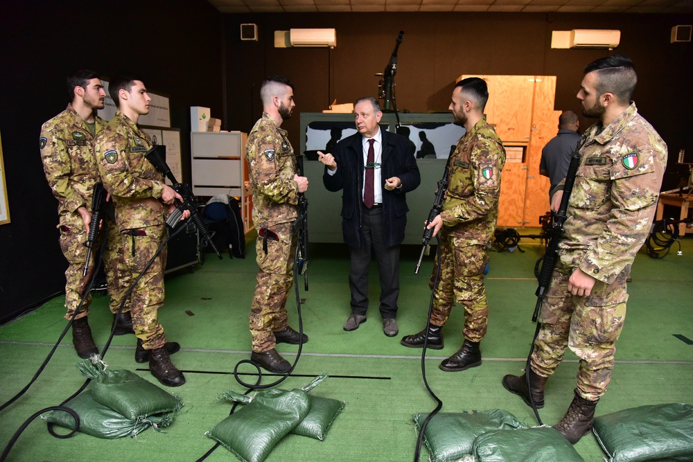
[[[103,118],[97,116],[96,133],[103,130],[105,124]],[[91,208],[91,196],[98,182],[92,154],[94,136],[70,104],[42,125],[39,147],[46,179],[58,199],[58,226],[83,230],[84,221],[77,209],[81,206],[87,210]]]

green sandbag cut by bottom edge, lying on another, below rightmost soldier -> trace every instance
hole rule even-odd
[[[584,462],[558,430],[534,427],[492,430],[474,441],[477,462]]]

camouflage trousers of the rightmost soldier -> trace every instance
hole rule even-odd
[[[597,281],[590,296],[568,292],[572,268],[554,270],[538,317],[541,327],[534,341],[531,366],[548,377],[563,360],[565,348],[580,359],[577,390],[582,398],[597,400],[611,381],[615,344],[626,317],[626,272],[611,284]]]

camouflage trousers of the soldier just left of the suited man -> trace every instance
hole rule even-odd
[[[279,240],[267,239],[258,234],[255,242],[258,263],[257,285],[250,306],[250,333],[252,348],[256,353],[272,350],[277,345],[274,332],[288,326],[286,299],[294,282],[294,254],[296,239],[291,223],[272,226]],[[267,254],[265,254],[265,242]]]

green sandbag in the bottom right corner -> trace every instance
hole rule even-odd
[[[593,432],[610,462],[693,461],[693,406],[648,405],[595,418]]]

